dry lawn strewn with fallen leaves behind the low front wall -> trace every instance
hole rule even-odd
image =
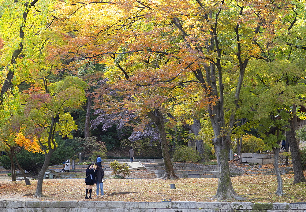
[[[0,199],[37,200],[34,194],[37,180],[31,180],[31,186],[24,181],[10,182],[7,179],[0,181]],[[306,202],[306,183],[292,184],[293,174],[282,175],[284,196],[274,194],[277,187],[275,175],[232,177],[235,191],[248,198],[247,202]],[[176,189],[171,189],[174,183]],[[105,199],[103,201],[132,201],[132,202],[160,202],[162,199],[171,201],[210,202],[215,195],[218,178],[192,178],[177,180],[160,179],[107,179],[104,183]],[[95,185],[93,197],[95,197]],[[44,180],[43,194],[46,197],[40,200],[85,200],[84,180]],[[129,194],[115,194],[114,192],[135,192]],[[97,200],[97,199],[92,199]],[[102,200],[102,199],[98,199]],[[89,200],[90,201],[90,200]]]

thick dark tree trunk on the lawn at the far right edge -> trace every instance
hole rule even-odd
[[[302,167],[302,161],[300,157],[300,151],[299,151],[299,145],[297,143],[297,139],[295,137],[295,130],[297,129],[297,107],[296,105],[293,105],[292,107],[292,118],[288,120],[289,122],[289,128],[290,130],[286,132],[286,138],[290,146],[290,154],[291,154],[291,160],[293,165],[293,172],[294,172],[294,180],[293,183],[301,183],[306,182],[304,173],[303,173],[303,167]],[[286,144],[286,149],[287,149]]]

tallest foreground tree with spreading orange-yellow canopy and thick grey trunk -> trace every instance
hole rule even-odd
[[[215,198],[244,199],[233,190],[228,166],[244,73],[250,59],[261,57],[259,43],[265,46],[275,31],[290,25],[283,21],[291,12],[289,2],[73,2],[69,17],[75,19],[91,3],[96,19],[91,24],[78,21],[74,35],[82,42],[62,49],[63,54],[106,61],[109,83],[130,93],[126,106],[137,112],[141,107],[153,120],[161,120],[159,112],[166,114],[164,106],[174,89],[201,87],[219,165]]]

